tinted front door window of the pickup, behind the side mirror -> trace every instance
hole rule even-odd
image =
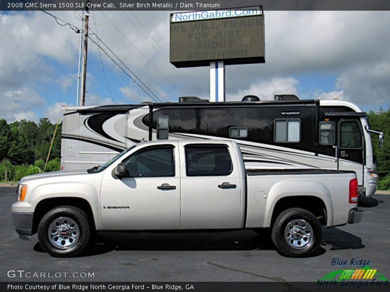
[[[174,177],[173,147],[150,147],[127,158],[123,163],[130,177]]]

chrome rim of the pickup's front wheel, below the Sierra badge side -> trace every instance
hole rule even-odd
[[[78,242],[79,227],[75,220],[69,217],[54,219],[47,231],[49,241],[59,249],[68,249]]]

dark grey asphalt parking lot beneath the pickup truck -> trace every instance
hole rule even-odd
[[[390,277],[390,195],[361,208],[362,222],[324,230],[321,248],[308,258],[280,256],[269,237],[250,230],[100,232],[82,256],[55,258],[41,251],[36,235],[19,239],[10,214],[15,197],[15,187],[0,188],[0,281],[316,281],[339,268],[334,258],[370,260]],[[18,270],[24,272],[9,272]]]

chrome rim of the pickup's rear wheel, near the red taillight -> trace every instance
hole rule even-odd
[[[284,238],[287,244],[294,249],[305,248],[313,240],[312,226],[304,219],[294,219],[287,224]]]

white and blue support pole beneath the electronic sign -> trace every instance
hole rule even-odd
[[[210,62],[210,101],[225,101],[225,64],[223,61]]]

